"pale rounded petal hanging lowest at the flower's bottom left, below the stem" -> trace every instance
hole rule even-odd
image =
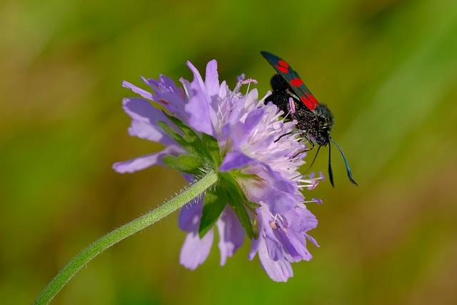
[[[179,256],[181,264],[191,270],[203,264],[211,250],[213,237],[213,230],[208,231],[203,239],[200,239],[198,232],[187,234]]]

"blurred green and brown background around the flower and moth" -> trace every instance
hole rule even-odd
[[[182,186],[116,174],[156,151],[129,137],[123,79],[219,61],[268,90],[283,56],[336,116],[336,188],[310,206],[310,262],[274,283],[245,244],[179,265],[176,214],[114,246],[54,304],[457,304],[457,1],[15,1],[0,4],[0,299],[28,304],[81,248]],[[321,156],[314,169],[326,171]]]

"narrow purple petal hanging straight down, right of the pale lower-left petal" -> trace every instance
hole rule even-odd
[[[219,231],[219,251],[221,251],[221,266],[226,264],[228,257],[243,244],[244,230],[229,206],[226,206],[221,218],[216,223]]]

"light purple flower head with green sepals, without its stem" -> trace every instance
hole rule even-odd
[[[258,99],[256,80],[238,78],[231,91],[219,82],[217,63],[209,61],[205,79],[189,61],[193,81],[181,86],[166,76],[144,79],[150,91],[124,81],[123,86],[141,98],[124,99],[131,116],[129,134],[164,144],[155,154],[114,164],[120,173],[164,164],[184,172],[189,181],[209,169],[219,181],[206,194],[186,204],[179,214],[179,227],[187,232],[181,249],[181,264],[196,269],[209,255],[214,225],[219,233],[221,265],[233,256],[245,236],[251,239],[249,259],[256,254],[274,281],[293,275],[291,263],[308,261],[306,241],[317,226],[301,191],[313,189],[323,176],[303,176],[305,146],[293,132],[295,121],[271,104]],[[241,92],[247,85],[246,94]],[[152,104],[163,107],[160,111]]]

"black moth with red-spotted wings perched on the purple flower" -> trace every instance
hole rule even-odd
[[[318,144],[318,149],[311,162],[311,166],[316,161],[321,147],[328,145],[328,178],[331,185],[334,186],[333,171],[331,169],[331,143],[333,143],[343,157],[349,181],[357,185],[353,179],[351,167],[349,167],[343,150],[330,136],[333,126],[333,115],[330,109],[325,104],[318,103],[300,76],[298,76],[296,71],[293,71],[286,61],[266,51],[261,51],[261,54],[276,70],[276,74],[271,78],[273,93],[266,98],[266,101],[271,101],[279,109],[284,111],[285,114],[289,114],[288,119],[297,121],[297,129],[311,145],[306,150],[313,149],[314,142]],[[281,139],[281,137],[278,139]]]

